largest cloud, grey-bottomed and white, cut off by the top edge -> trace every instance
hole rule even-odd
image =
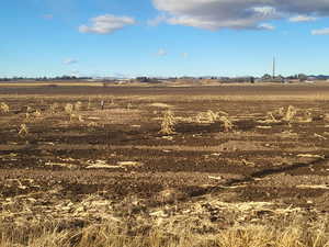
[[[270,26],[262,23],[273,20],[288,19],[300,22],[311,21],[317,16],[329,16],[328,0],[152,0],[152,2],[164,14],[162,16],[166,16],[164,20],[158,19],[158,22],[212,31],[264,30]]]

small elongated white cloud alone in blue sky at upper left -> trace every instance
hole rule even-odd
[[[121,30],[126,25],[133,25],[136,21],[129,16],[115,16],[112,14],[99,15],[91,19],[91,25],[80,25],[80,33],[109,34]]]

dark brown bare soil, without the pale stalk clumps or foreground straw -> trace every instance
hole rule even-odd
[[[207,194],[220,197],[234,191],[237,195],[231,201],[282,199],[286,203],[309,206],[307,200],[322,197],[326,189],[285,188],[280,186],[280,181],[272,188],[261,186],[259,181],[282,175],[283,180],[296,180],[295,187],[303,176],[322,176],[329,182],[329,136],[324,119],[329,111],[327,102],[264,99],[259,103],[220,100],[219,96],[311,96],[319,92],[329,92],[329,87],[0,88],[1,101],[11,106],[11,112],[1,113],[0,119],[0,197],[5,199],[31,193],[47,197],[55,188],[54,197],[58,199],[79,201],[87,194],[102,194],[121,201],[136,195],[148,201],[149,205],[156,205],[159,192],[174,189],[182,193],[180,201]],[[14,93],[21,97],[11,96]],[[116,97],[116,104],[106,105],[111,114],[102,114],[97,103],[93,110],[87,111],[88,97],[98,94]],[[212,98],[207,101],[207,94],[218,94],[218,100]],[[70,96],[81,98],[84,106],[79,114],[83,115],[84,122],[69,122],[63,110],[49,113],[52,103],[57,102],[64,108],[72,102]],[[155,100],[134,101],[125,98],[127,96],[149,96]],[[180,121],[175,125],[177,134],[162,136],[159,127],[163,109],[149,106],[158,102],[157,96],[169,96],[171,100],[161,102],[173,105],[175,116],[192,117],[207,110],[225,111],[230,117],[236,117],[234,128],[225,132],[219,122]],[[203,96],[205,100],[193,102],[186,96]],[[175,101],[175,97],[180,100]],[[133,102],[132,111],[139,111],[139,119],[134,119],[134,112],[125,109],[128,102]],[[42,111],[42,116],[26,120],[26,105]],[[310,109],[313,121],[259,122],[266,119],[269,111],[288,105],[296,106],[298,114]],[[99,120],[95,122],[99,125],[89,126],[91,120],[88,116],[97,111]],[[257,116],[246,115],[253,113]],[[22,123],[29,127],[26,136],[18,135]],[[305,157],[305,154],[313,156]],[[98,160],[111,168],[90,169],[89,166]],[[138,165],[121,166],[122,161]],[[33,182],[29,183],[30,180]]]

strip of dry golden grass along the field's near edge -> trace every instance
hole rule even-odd
[[[146,223],[145,223],[146,224]],[[194,223],[196,224],[196,223]],[[328,247],[326,222],[293,222],[284,225],[237,225],[216,233],[184,229],[168,233],[145,225],[147,234],[129,234],[127,225],[106,222],[83,228],[59,225],[0,228],[0,247]],[[143,228],[143,226],[140,226]],[[151,227],[149,231],[147,228]],[[141,229],[140,228],[140,229]]]

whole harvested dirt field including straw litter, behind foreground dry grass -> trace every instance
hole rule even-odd
[[[329,212],[329,86],[0,87],[1,102],[2,225],[204,234]]]

